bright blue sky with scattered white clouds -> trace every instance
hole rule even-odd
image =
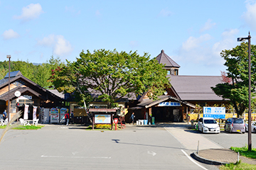
[[[179,75],[219,76],[222,50],[256,43],[256,1],[0,0],[0,61],[74,62],[82,50],[164,50]]]

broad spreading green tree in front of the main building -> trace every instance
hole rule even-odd
[[[50,79],[58,91],[77,92],[87,99],[89,92],[96,93],[94,99],[105,101],[110,108],[132,94],[150,91],[149,97],[154,99],[164,94],[169,80],[163,67],[147,53],[87,50],[77,61],[55,69]]]

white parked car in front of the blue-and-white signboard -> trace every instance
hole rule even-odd
[[[220,133],[220,126],[214,118],[200,118],[198,130],[203,133]]]

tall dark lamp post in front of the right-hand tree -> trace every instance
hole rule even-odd
[[[247,38],[238,38],[238,41],[248,40],[248,77],[249,77],[249,106],[248,106],[248,150],[252,150],[252,112],[251,112],[251,47],[250,32]]]

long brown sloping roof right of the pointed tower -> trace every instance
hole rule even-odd
[[[171,76],[170,83],[182,101],[223,101],[210,88],[221,80],[220,76]]]

